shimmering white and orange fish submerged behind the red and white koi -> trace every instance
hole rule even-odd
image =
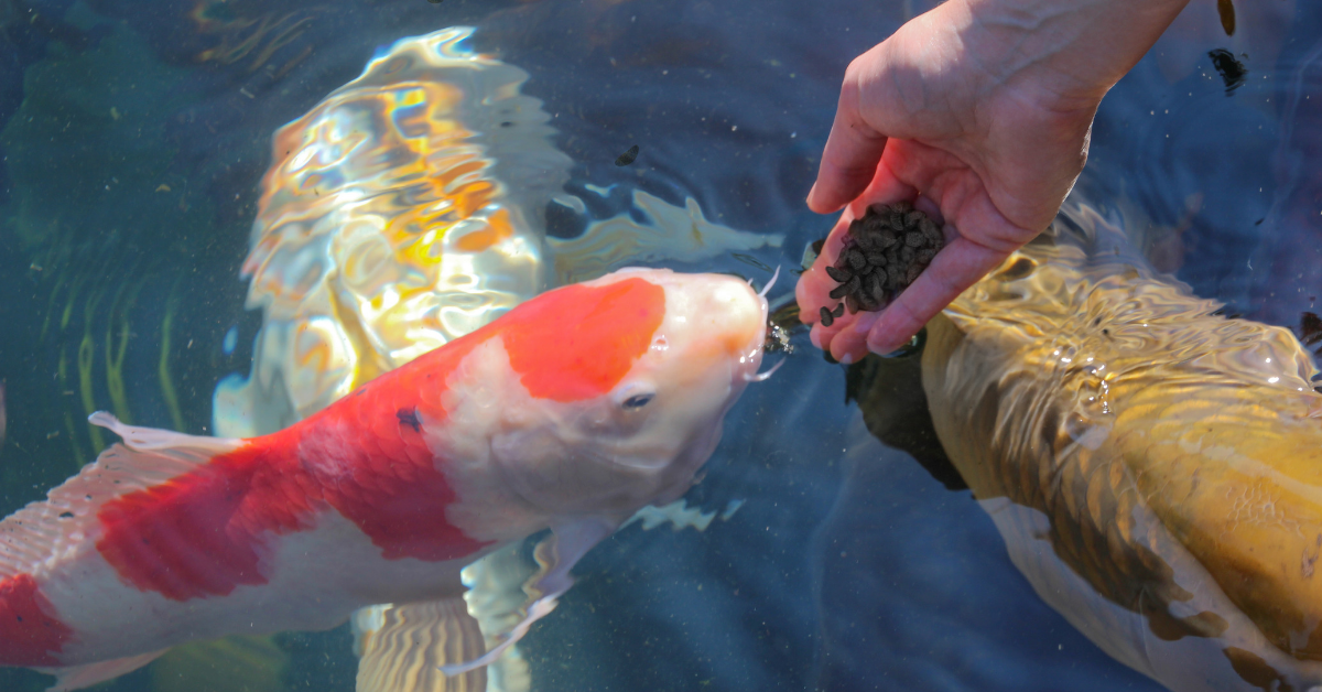
[[[527,73],[471,50],[472,36],[401,38],[276,131],[242,270],[262,328],[251,374],[215,389],[215,434],[286,427],[547,284],[780,245],[642,191],[547,242],[550,205],[587,210],[564,192],[574,161],[521,93]]]

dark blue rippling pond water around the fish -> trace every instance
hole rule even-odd
[[[274,28],[233,50],[249,34],[206,33],[194,5],[213,25]],[[779,258],[759,257],[792,267],[830,228],[802,197],[843,69],[923,5],[5,0],[0,511],[94,456],[85,398],[110,408],[114,373],[135,423],[208,431],[212,390],[246,372],[260,323],[238,273],[270,134],[395,38],[477,26],[475,48],[531,74],[524,90],[575,161],[571,192],[691,196],[707,218],[785,234]],[[1241,7],[1232,40],[1199,32],[1211,5],[1194,3],[1107,98],[1076,193],[1133,210],[1153,261],[1199,295],[1297,327],[1322,291],[1322,8]],[[1248,67],[1233,91],[1215,48]],[[632,144],[637,161],[616,167]],[[537,689],[1158,689],[1034,595],[966,491],[862,433],[845,369],[797,340],[689,495],[747,503],[702,533],[635,525],[599,546],[524,644]],[[288,689],[353,688],[346,630],[276,643]],[[0,670],[0,689],[42,684]],[[104,689],[153,684],[140,671]]]

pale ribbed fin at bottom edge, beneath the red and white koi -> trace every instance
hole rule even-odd
[[[457,677],[440,670],[446,662],[471,660],[486,651],[461,597],[360,609],[353,614],[353,634],[357,692],[486,689],[484,668]]]

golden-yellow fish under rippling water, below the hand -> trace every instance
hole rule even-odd
[[[1318,370],[1219,307],[1030,245],[928,324],[923,386],[1015,566],[1097,646],[1175,691],[1317,689]]]

